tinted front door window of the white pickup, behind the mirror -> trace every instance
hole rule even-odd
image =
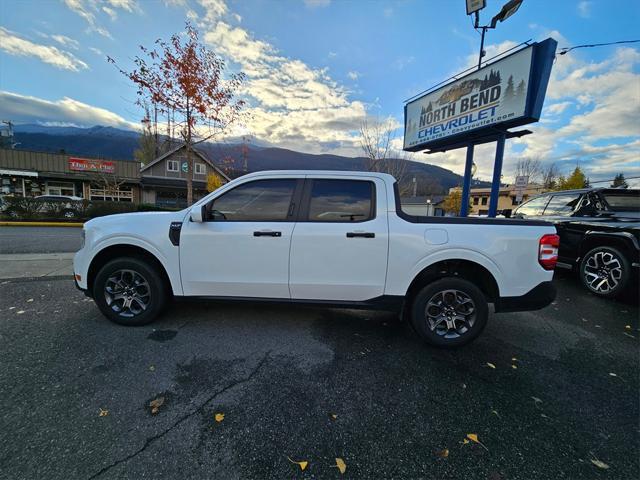
[[[277,222],[287,219],[296,179],[256,180],[216,198],[209,218],[231,222]]]

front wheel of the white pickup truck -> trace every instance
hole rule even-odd
[[[100,269],[93,284],[93,298],[112,322],[147,325],[162,312],[167,285],[154,265],[135,257],[121,257]]]

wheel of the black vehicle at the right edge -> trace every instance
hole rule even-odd
[[[620,250],[596,247],[589,250],[580,262],[580,281],[599,297],[615,297],[629,283],[631,265]]]

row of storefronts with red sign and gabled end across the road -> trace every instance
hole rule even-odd
[[[229,177],[199,150],[193,151],[194,200]],[[147,165],[65,154],[0,149],[0,196],[65,195],[93,201],[134,202],[168,208],[187,205],[184,145]]]

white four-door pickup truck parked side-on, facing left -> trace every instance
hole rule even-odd
[[[398,311],[427,342],[458,346],[496,312],[555,297],[555,227],[412,217],[383,173],[267,171],[179,212],[87,222],[75,281],[122,325],[172,297]]]

